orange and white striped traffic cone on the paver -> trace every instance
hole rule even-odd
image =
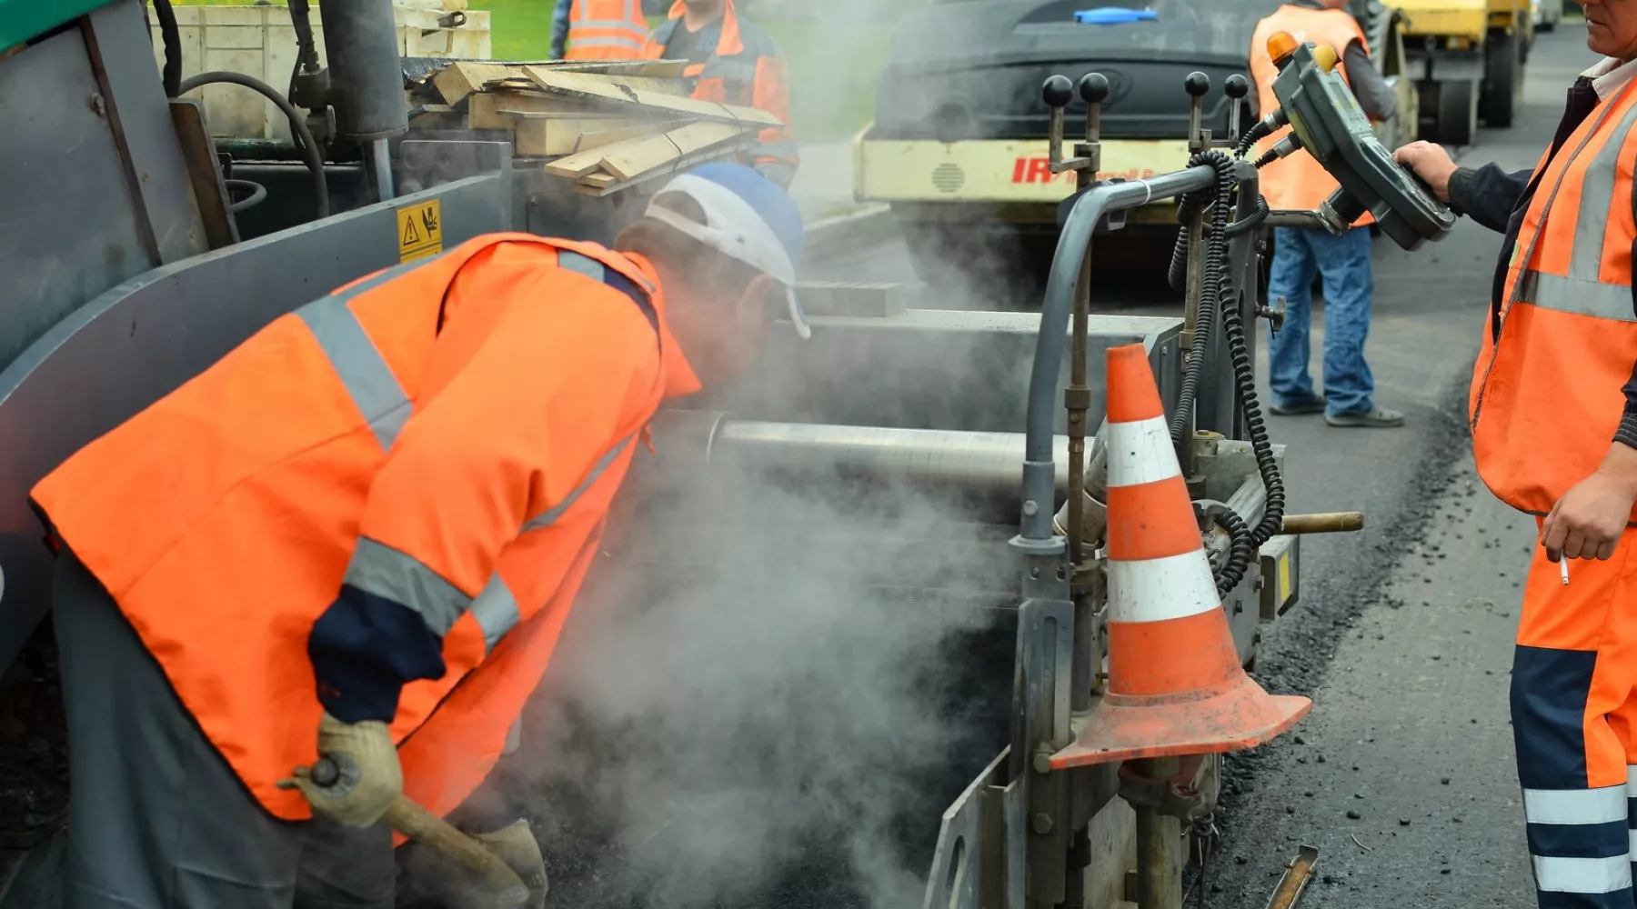
[[[1260,746],[1313,701],[1239,665],[1139,343],[1108,352],[1108,690],[1054,768]]]

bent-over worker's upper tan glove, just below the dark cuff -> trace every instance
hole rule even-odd
[[[314,813],[337,824],[370,827],[404,791],[398,749],[380,719],[342,723],[326,713],[318,724],[318,754],[339,770],[332,785],[319,785],[311,768],[296,767],[295,778],[278,786],[301,790]]]

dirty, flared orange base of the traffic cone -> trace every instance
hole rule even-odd
[[[1053,770],[1143,757],[1244,750],[1272,741],[1313,710],[1300,696],[1269,695],[1244,672],[1203,696],[1108,695],[1085,729],[1051,757]]]

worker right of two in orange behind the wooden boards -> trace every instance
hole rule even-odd
[[[756,136],[750,165],[789,188],[800,165],[789,126],[789,65],[773,36],[740,16],[733,0],[676,0],[642,56],[688,60],[684,75],[694,82],[692,96],[701,101],[756,108],[784,121],[786,126]]]

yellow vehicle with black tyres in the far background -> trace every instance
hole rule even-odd
[[[1478,121],[1504,129],[1522,96],[1534,41],[1529,0],[1388,0],[1403,16],[1421,137],[1470,144]]]

